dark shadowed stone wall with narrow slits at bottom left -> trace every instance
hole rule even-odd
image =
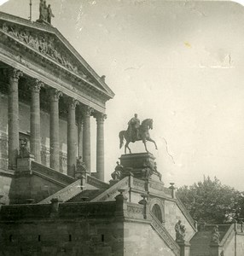
[[[53,205],[2,207],[0,255],[123,255],[115,202],[60,204],[57,211]]]

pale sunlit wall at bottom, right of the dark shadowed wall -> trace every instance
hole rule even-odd
[[[125,256],[174,255],[150,224],[125,222],[124,229]]]

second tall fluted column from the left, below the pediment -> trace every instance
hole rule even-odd
[[[40,135],[40,90],[44,83],[38,79],[31,85],[32,103],[31,103],[31,153],[37,162],[41,161],[41,135]]]

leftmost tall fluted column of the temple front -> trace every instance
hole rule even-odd
[[[9,72],[9,169],[17,167],[19,154],[19,79],[20,70]]]

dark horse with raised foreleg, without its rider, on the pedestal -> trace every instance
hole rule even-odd
[[[154,143],[155,148],[157,148],[156,143],[153,139],[150,138],[149,129],[153,129],[153,119],[145,119],[142,121],[142,125],[139,127],[139,137],[136,141],[142,141],[142,143],[145,146],[146,151],[148,152],[148,148],[146,145],[146,142]],[[129,143],[135,143],[135,140],[131,138],[130,131],[127,129],[127,131],[119,131],[119,148],[122,148],[124,144],[124,139],[126,141],[125,143],[125,154],[126,154],[126,148],[129,149],[131,154],[131,148],[129,148]]]

